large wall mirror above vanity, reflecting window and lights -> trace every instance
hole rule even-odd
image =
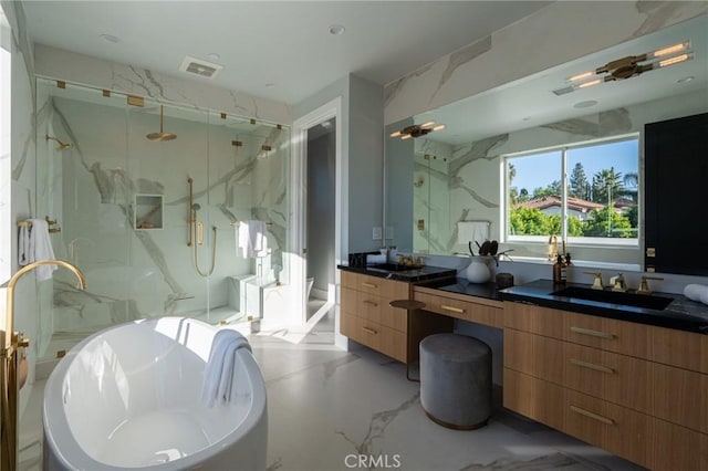
[[[677,44],[638,70],[569,81]],[[490,239],[544,261],[556,236],[576,259],[641,270],[644,126],[706,111],[702,15],[388,125],[385,242],[452,255]],[[410,138],[391,137],[399,130]]]

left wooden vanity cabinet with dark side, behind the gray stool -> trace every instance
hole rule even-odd
[[[398,362],[416,360],[427,335],[452,331],[449,317],[391,306],[392,301],[410,299],[409,283],[348,271],[342,271],[341,280],[342,335]]]

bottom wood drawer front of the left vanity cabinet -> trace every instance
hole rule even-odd
[[[398,362],[406,362],[406,334],[403,332],[348,313],[342,313],[340,316],[340,332]]]

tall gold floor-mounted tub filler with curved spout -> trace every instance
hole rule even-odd
[[[14,286],[27,272],[42,265],[58,265],[70,270],[79,279],[79,287],[86,289],[86,278],[76,266],[62,260],[42,260],[30,263],[18,270],[8,282],[8,301],[4,320],[4,341],[0,352],[0,383],[2,389],[2,419],[0,426],[0,469],[17,470],[18,454],[18,396],[19,388],[27,378],[27,359],[24,348],[30,346],[30,339],[21,332],[14,332]],[[19,354],[19,356],[18,356]],[[18,378],[18,371],[20,378]],[[24,376],[24,378],[22,378]],[[18,380],[19,379],[19,380]]]

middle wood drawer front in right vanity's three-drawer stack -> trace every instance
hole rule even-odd
[[[504,367],[645,414],[652,408],[646,360],[507,328]]]

